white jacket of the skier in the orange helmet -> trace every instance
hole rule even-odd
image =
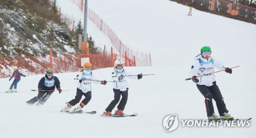
[[[89,91],[92,91],[92,82],[95,84],[100,84],[100,81],[92,81],[92,80],[98,80],[97,77],[92,74],[92,71],[82,71],[79,72],[75,79],[83,79],[82,83],[79,82],[79,80],[75,80],[75,83],[78,85],[78,88],[82,90],[83,93],[87,93]]]

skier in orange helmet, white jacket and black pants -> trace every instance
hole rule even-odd
[[[72,112],[77,112],[82,110],[82,108],[89,103],[92,98],[92,82],[95,84],[106,85],[107,81],[95,81],[98,80],[95,74],[91,70],[92,64],[90,62],[84,63],[84,68],[76,75],[75,83],[78,85],[76,88],[75,99],[72,99],[67,103],[67,106],[61,110],[61,112],[70,112],[70,108],[75,106],[80,102],[82,96],[85,96],[85,99],[75,108]]]

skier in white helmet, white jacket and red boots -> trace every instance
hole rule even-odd
[[[115,108],[115,106],[118,104],[120,97],[122,95],[122,99],[120,103],[117,106],[117,110],[115,111],[115,115],[122,115],[123,110],[125,109],[125,105],[127,103],[128,98],[128,85],[127,81],[125,80],[126,77],[130,79],[141,79],[142,74],[138,74],[137,76],[128,76],[131,75],[131,73],[124,69],[124,63],[120,59],[117,59],[115,61],[115,67],[113,71],[111,72],[111,78],[114,80],[113,82],[113,91],[114,91],[114,100],[108,105],[108,107],[105,109],[105,112],[102,116],[112,116],[112,110]]]

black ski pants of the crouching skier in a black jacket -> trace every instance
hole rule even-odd
[[[52,91],[38,91],[38,95],[36,97],[30,99],[26,103],[33,105],[34,103],[36,103],[38,101],[36,106],[43,106],[43,104],[47,101],[47,99],[49,99],[49,97],[52,94],[53,94]]]

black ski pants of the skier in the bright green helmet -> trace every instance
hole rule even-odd
[[[213,85],[210,87],[197,84],[197,88],[205,98],[205,106],[208,117],[210,117],[214,113],[212,99],[216,101],[217,109],[220,116],[223,116],[224,112],[228,113],[228,110],[226,109],[226,104],[224,103],[223,100],[224,98],[220,93],[219,87],[216,85],[216,81],[214,81]]]

